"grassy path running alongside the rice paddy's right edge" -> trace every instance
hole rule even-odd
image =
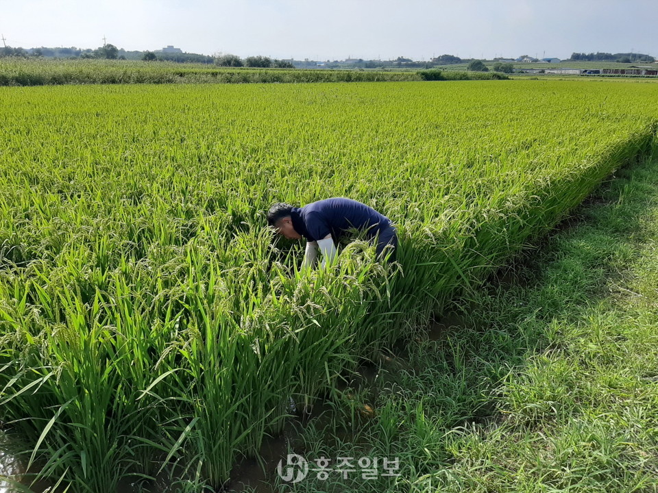
[[[311,468],[323,455],[330,468],[339,456],[397,456],[399,477],[365,480],[356,466],[294,485],[273,474],[269,487],[658,491],[657,253],[654,158],[620,171],[374,385],[348,387],[351,408],[313,418],[291,444]]]

